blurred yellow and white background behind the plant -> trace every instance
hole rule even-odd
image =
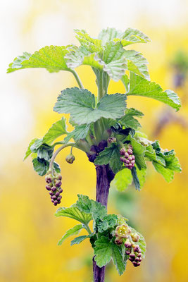
[[[146,238],[146,259],[118,276],[114,266],[106,271],[106,282],[187,282],[188,281],[188,82],[175,87],[171,66],[177,50],[188,54],[188,3],[183,0],[18,0],[1,1],[1,139],[0,139],[0,282],[90,282],[92,248],[89,242],[61,247],[58,240],[72,219],[56,218],[45,190],[44,178],[37,176],[30,159],[23,162],[28,143],[42,137],[60,116],[52,111],[56,97],[65,87],[76,85],[70,73],[50,74],[44,69],[27,69],[6,74],[8,63],[23,51],[34,52],[46,45],[77,43],[73,29],[85,29],[96,36],[102,28],[125,30],[134,27],[152,39],[135,44],[149,61],[151,80],[163,89],[172,89],[182,98],[182,109],[156,133],[159,117],[168,113],[160,102],[129,97],[128,106],[144,112],[143,131],[159,139],[161,147],[175,149],[182,173],[165,183],[149,166],[141,192],[133,188],[123,195],[111,191],[108,212],[125,212]],[[84,87],[96,94],[94,74],[89,67],[77,72]],[[176,89],[177,88],[177,89]],[[123,85],[111,82],[109,93],[124,92]],[[172,115],[172,111],[170,111]],[[74,150],[76,161],[65,163],[65,149],[58,155],[63,175],[62,206],[69,207],[77,193],[95,197],[95,169],[82,152]],[[125,202],[120,201],[125,197]],[[130,199],[130,202],[128,201]],[[128,201],[128,202],[127,202]]]

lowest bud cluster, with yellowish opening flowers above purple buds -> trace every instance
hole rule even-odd
[[[127,224],[122,224],[117,226],[115,229],[115,244],[122,245],[125,244],[125,254],[132,264],[137,267],[142,262],[142,255],[139,245],[135,242],[139,241],[139,235],[137,233],[132,233],[131,229]]]

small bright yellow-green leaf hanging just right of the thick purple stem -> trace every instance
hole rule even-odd
[[[115,188],[122,192],[132,183],[132,174],[130,169],[123,168],[115,174],[115,178],[111,181],[111,188]]]

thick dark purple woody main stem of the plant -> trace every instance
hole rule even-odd
[[[114,176],[108,164],[96,166],[96,201],[104,204],[106,208],[108,204],[108,192]],[[94,282],[104,282],[105,269],[106,266],[97,266],[93,257]]]

